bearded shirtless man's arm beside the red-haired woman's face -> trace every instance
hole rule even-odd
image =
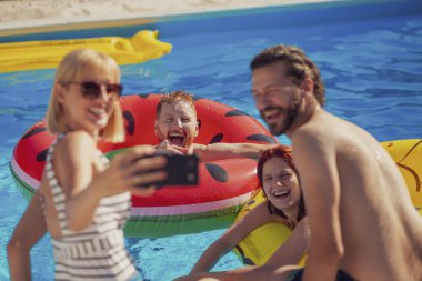
[[[311,230],[311,245],[303,280],[334,280],[343,254],[340,224],[340,180],[335,151],[321,138],[293,139]]]

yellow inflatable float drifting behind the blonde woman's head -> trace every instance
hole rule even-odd
[[[131,38],[102,37],[0,43],[0,73],[56,68],[76,49],[90,48],[112,57],[119,64],[141,63],[169,53],[172,46],[158,40],[158,31],[142,30]]]

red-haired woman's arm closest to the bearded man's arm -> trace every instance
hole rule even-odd
[[[305,217],[297,224],[289,239],[271,255],[265,264],[278,268],[298,264],[309,251],[310,233],[308,218]]]

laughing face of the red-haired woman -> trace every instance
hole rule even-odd
[[[279,210],[299,209],[301,190],[294,170],[279,157],[272,157],[262,167],[262,182],[268,200]]]

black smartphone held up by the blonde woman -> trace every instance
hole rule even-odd
[[[167,171],[168,178],[163,181],[145,183],[142,187],[157,185],[160,189],[162,187],[171,185],[198,185],[199,159],[197,155],[154,154],[149,155],[149,158],[158,155],[167,158],[164,170]]]

